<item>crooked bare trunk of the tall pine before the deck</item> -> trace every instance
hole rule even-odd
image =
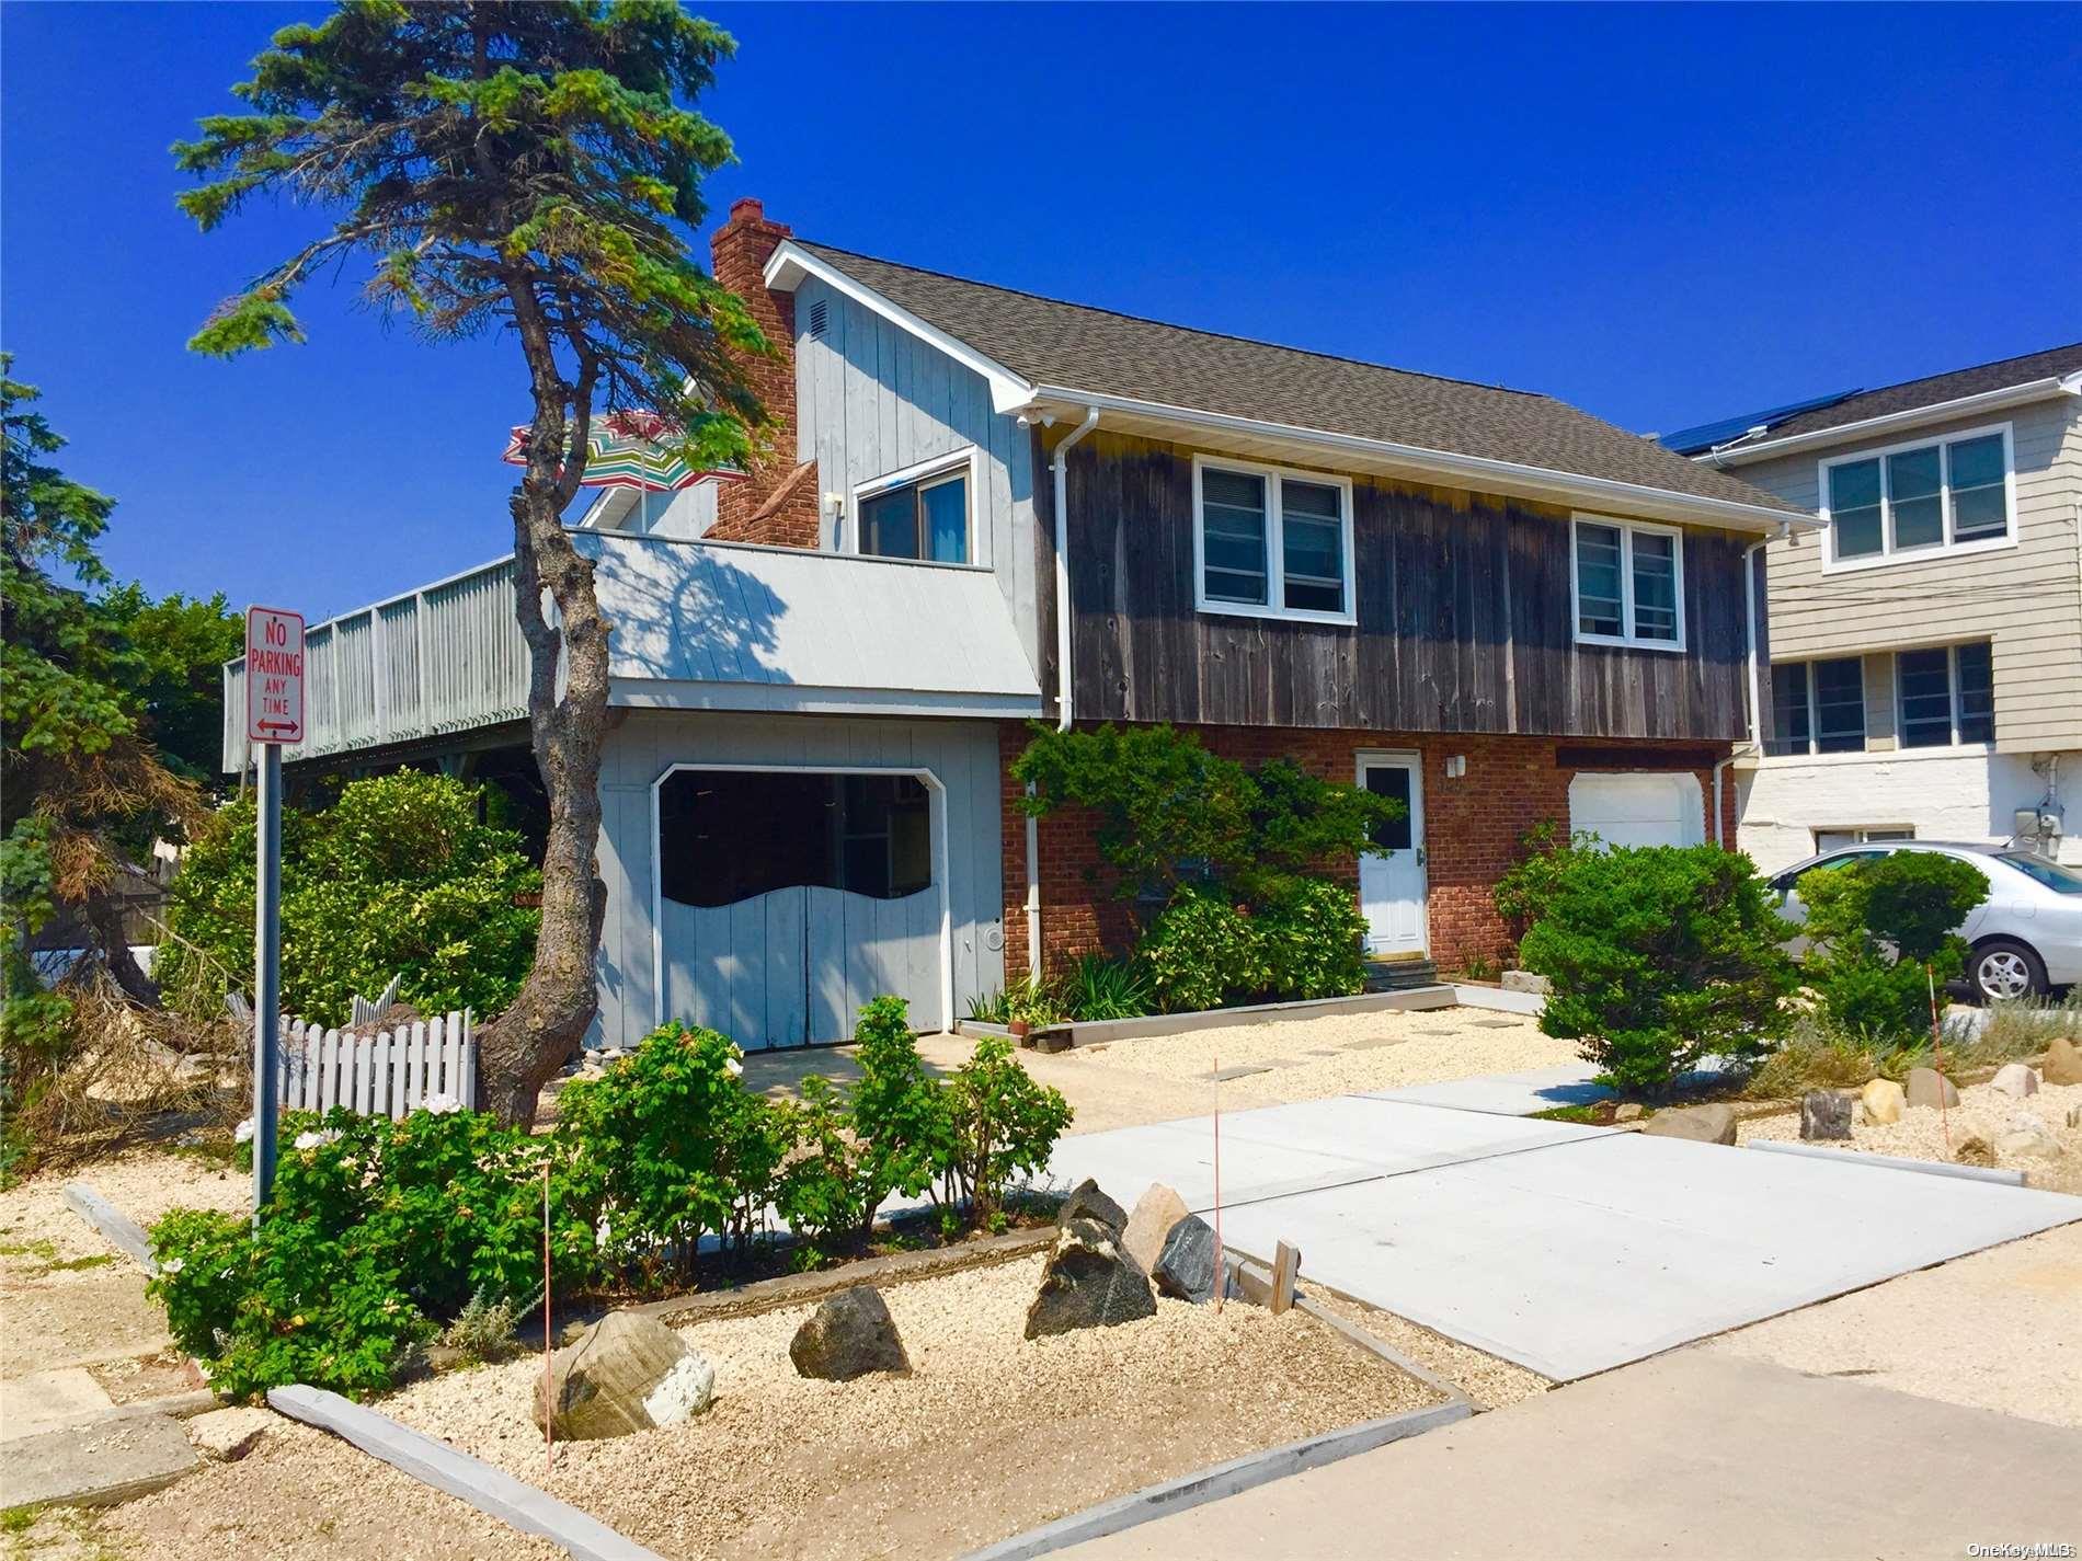
[[[612,624],[600,614],[593,566],[570,545],[562,520],[583,477],[595,370],[581,364],[579,383],[564,383],[533,289],[525,279],[510,289],[535,395],[527,475],[512,495],[514,616],[529,647],[529,731],[550,803],[550,835],[535,964],[512,1005],[485,1026],[477,1057],[479,1103],[502,1122],[533,1124],[541,1086],[583,1043],[598,1009],[595,957],[608,891],[595,853]],[[575,425],[568,441],[566,406]],[[558,622],[543,614],[543,591]]]

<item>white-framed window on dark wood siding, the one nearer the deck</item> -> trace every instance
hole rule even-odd
[[[1193,606],[1249,618],[1353,622],[1351,483],[1193,458]]]

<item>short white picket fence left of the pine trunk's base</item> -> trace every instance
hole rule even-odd
[[[393,1030],[354,1034],[283,1014],[283,1111],[404,1118],[435,1097],[477,1109],[477,1030],[471,1014],[448,1014]]]

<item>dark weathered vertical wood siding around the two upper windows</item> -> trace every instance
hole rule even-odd
[[[1101,431],[1068,487],[1078,720],[1745,735],[1741,537],[1684,531],[1686,649],[1634,651],[1572,643],[1566,510],[1355,479],[1341,626],[1195,612],[1191,450]]]

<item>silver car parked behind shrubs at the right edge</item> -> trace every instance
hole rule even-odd
[[[1801,878],[1816,868],[1872,862],[1888,851],[1938,851],[1972,862],[1988,876],[1988,897],[1959,924],[1972,953],[1965,980],[1982,1001],[2038,997],[2082,980],[2082,872],[2030,851],[1951,841],[1868,841],[1807,858],[1772,878],[1778,914],[1805,922]],[[1807,939],[1786,945],[1805,953]]]

